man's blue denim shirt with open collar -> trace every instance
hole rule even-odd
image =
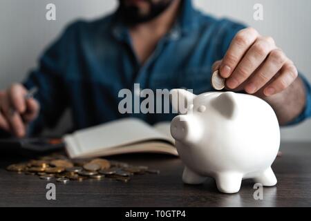
[[[117,12],[97,21],[77,21],[41,56],[37,70],[24,85],[37,86],[35,98],[41,104],[32,132],[54,126],[66,108],[73,115],[73,129],[86,128],[121,117],[139,117],[150,124],[171,120],[173,114],[121,114],[118,97],[122,88],[191,88],[200,94],[213,90],[211,66],[222,59],[243,24],[202,15],[182,1],[171,31],[141,65],[135,57],[129,30]],[[308,102],[301,122],[311,115],[310,84],[304,79]]]

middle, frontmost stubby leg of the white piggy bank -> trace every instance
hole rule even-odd
[[[241,188],[240,173],[219,173],[215,177],[217,189],[223,193],[237,193]]]

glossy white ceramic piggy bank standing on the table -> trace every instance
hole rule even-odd
[[[223,193],[238,192],[248,178],[263,186],[276,184],[271,165],[279,151],[280,129],[269,104],[233,92],[171,90],[173,108],[180,111],[182,99],[187,113],[173,118],[171,135],[185,164],[183,182],[201,184],[214,177]]]

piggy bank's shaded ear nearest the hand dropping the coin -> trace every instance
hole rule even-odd
[[[236,115],[236,94],[233,92],[225,92],[211,101],[216,111],[228,119],[232,119]]]

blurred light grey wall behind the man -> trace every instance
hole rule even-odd
[[[57,20],[46,21],[46,5],[57,7]],[[253,6],[263,5],[263,21],[254,21]],[[196,0],[196,8],[253,26],[274,37],[311,81],[310,0]],[[21,81],[35,68],[42,50],[75,19],[96,19],[113,12],[117,0],[0,0],[0,88]],[[65,117],[66,118],[66,117]],[[63,121],[63,124],[69,124]],[[282,129],[282,140],[311,141],[311,120]]]

